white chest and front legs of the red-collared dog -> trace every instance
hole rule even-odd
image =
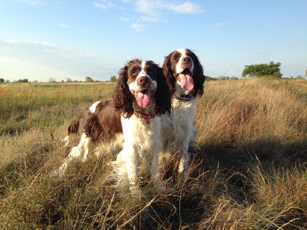
[[[161,118],[154,117],[147,124],[146,120],[133,115],[130,118],[121,118],[124,133],[124,148],[112,162],[117,173],[120,186],[130,186],[134,190],[137,182],[138,163],[141,170],[151,173],[156,185],[161,187],[158,178],[158,153],[161,151]]]

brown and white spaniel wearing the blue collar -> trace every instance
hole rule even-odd
[[[162,68],[171,86],[173,116],[162,116],[161,120],[164,145],[161,167],[166,155],[179,154],[180,173],[188,167],[189,145],[195,146],[195,107],[197,98],[204,93],[204,70],[198,57],[189,49],[171,52],[165,57]]]

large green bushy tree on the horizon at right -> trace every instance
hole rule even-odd
[[[280,73],[280,66],[282,64],[280,62],[274,63],[270,62],[270,64],[255,64],[255,65],[246,65],[245,69],[242,72],[242,77],[263,77],[263,76],[275,76],[278,78],[282,77],[282,73]]]

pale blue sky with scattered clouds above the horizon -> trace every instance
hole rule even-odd
[[[0,78],[108,80],[134,57],[195,50],[204,74],[307,69],[307,1],[0,0]]]

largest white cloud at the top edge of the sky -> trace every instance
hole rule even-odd
[[[137,11],[150,16],[160,16],[162,10],[169,10],[175,13],[203,13],[204,8],[199,4],[185,1],[165,1],[165,0],[137,0],[134,2]]]

